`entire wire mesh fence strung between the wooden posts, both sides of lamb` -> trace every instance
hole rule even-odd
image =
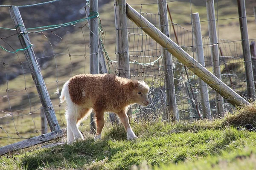
[[[157,0],[150,0],[147,3],[127,0],[140,14],[160,29],[160,15],[158,13]],[[52,3],[54,5],[54,3]],[[196,59],[195,42],[193,40],[192,21],[190,14],[200,10],[206,16],[206,9],[203,6],[195,7],[196,2],[187,0],[168,1],[167,5],[172,12],[172,19],[169,18],[170,38],[176,42],[184,51]],[[115,28],[113,2],[105,3],[105,8],[99,13],[100,18],[100,43],[103,46],[108,72],[118,75],[118,59],[115,52]],[[233,36],[232,39],[221,39],[223,34],[221,24],[230,22],[236,29],[236,34],[240,35],[237,17],[224,17],[223,5],[221,2],[215,4],[218,24],[218,47],[220,55],[221,79],[231,89],[236,91],[244,99],[248,99],[248,87],[246,84],[246,74],[244,68],[243,50],[241,38]],[[184,14],[178,11],[181,6],[186,6]],[[3,7],[2,7],[3,8]],[[28,7],[33,8],[33,7]],[[67,79],[76,75],[89,73],[89,25],[88,18],[82,12],[83,19],[69,19],[62,23],[52,24],[49,27],[37,28],[31,23],[27,33],[31,40],[31,46],[36,53],[41,73],[44,77],[53,109],[55,110],[58,124],[61,128],[66,127],[64,117],[65,105],[60,105],[59,96],[62,85]],[[109,12],[111,11],[111,12]],[[102,14],[101,14],[102,12]],[[177,12],[177,14],[175,14]],[[108,14],[110,13],[110,14]],[[184,17],[180,19],[178,16]],[[80,15],[81,16],[81,15]],[[110,21],[110,18],[111,21]],[[211,43],[207,35],[207,19],[202,17],[202,35],[205,67],[213,73],[213,60],[211,57]],[[249,16],[249,18],[253,18]],[[29,20],[23,18],[23,20]],[[234,21],[235,20],[235,21]],[[177,22],[178,21],[178,22]],[[175,23],[176,22],[176,23]],[[11,18],[7,23],[12,23]],[[166,96],[166,80],[164,73],[163,47],[146,34],[140,27],[131,20],[127,20],[128,47],[130,57],[131,79],[144,80],[150,86],[150,105],[141,107],[134,105],[132,114],[135,120],[146,119],[149,121],[164,118],[164,113],[168,109]],[[230,27],[229,27],[230,28]],[[225,30],[224,30],[225,31]],[[41,134],[41,102],[38,97],[36,86],[31,77],[28,63],[23,50],[18,42],[19,34],[15,29],[0,29],[0,146],[29,139]],[[223,36],[227,38],[227,36]],[[250,41],[256,37],[251,36]],[[175,81],[175,95],[177,103],[177,113],[180,121],[192,122],[201,119],[202,103],[200,96],[200,84],[198,78],[189,68],[185,67],[179,60],[172,56],[173,73]],[[215,91],[209,87],[209,102],[212,115],[216,115]],[[234,109],[227,100],[224,100],[224,112],[232,112]],[[90,126],[90,120],[82,122],[81,130]],[[49,132],[47,126],[47,132]]]

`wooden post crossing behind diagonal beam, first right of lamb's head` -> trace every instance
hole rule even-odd
[[[167,15],[167,3],[166,0],[157,0],[158,1],[158,13],[160,17],[160,30],[167,37],[169,35],[169,24],[168,24],[168,15]],[[174,76],[173,76],[173,64],[172,64],[172,55],[163,48],[163,66],[164,66],[164,75],[165,75],[165,86],[166,86],[166,97],[167,97],[167,115],[166,118],[172,118],[172,121],[179,122],[179,114],[176,104],[175,96],[175,85],[174,85]]]

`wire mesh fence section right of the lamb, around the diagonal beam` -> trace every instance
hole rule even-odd
[[[152,1],[153,2],[153,1]],[[177,2],[186,2],[186,0],[180,1],[167,1],[167,5],[171,6],[175,11],[175,5]],[[172,5],[173,4],[173,5]],[[149,22],[160,29],[160,16],[156,12],[151,13],[148,9],[157,9],[157,3],[146,4],[132,4],[131,6],[136,8],[137,11],[142,14]],[[190,14],[192,11],[193,2],[187,3],[187,6],[191,6]],[[179,7],[177,7],[179,8]],[[218,11],[218,3],[215,7]],[[205,11],[206,15],[206,11]],[[249,16],[252,17],[252,16]],[[218,20],[225,22],[233,22],[236,18],[225,18],[220,16],[217,12]],[[177,20],[177,18],[176,18]],[[229,21],[230,20],[230,21]],[[221,21],[219,21],[221,23]],[[143,22],[143,21],[141,21]],[[202,24],[207,20],[201,21]],[[141,119],[151,119],[163,117],[166,112],[168,103],[166,102],[166,86],[165,75],[163,67],[162,50],[163,48],[148,36],[141,28],[135,25],[131,20],[128,20],[128,43],[129,43],[129,57],[130,57],[130,74],[131,79],[144,80],[150,85],[150,100],[151,104],[146,107],[140,107],[139,105],[133,106],[133,114],[135,117]],[[234,23],[230,23],[234,24]],[[221,39],[219,32],[221,32],[222,25],[218,26],[218,46],[220,55],[220,67],[221,67],[221,80],[227,84],[230,88],[236,91],[244,99],[248,99],[248,87],[246,85],[246,74],[244,68],[244,59],[241,40],[225,40]],[[237,25],[239,28],[239,25]],[[205,27],[204,27],[205,28]],[[207,28],[207,27],[206,27]],[[202,30],[208,31],[208,30]],[[195,44],[193,42],[192,24],[190,22],[180,22],[179,24],[169,20],[169,32],[170,38],[180,45],[193,58],[196,58]],[[240,32],[238,32],[240,34]],[[212,44],[209,41],[209,36],[202,35],[204,58],[206,68],[214,73],[213,60],[211,57]],[[250,39],[255,40],[255,38]],[[117,58],[116,58],[117,60]],[[193,74],[189,68],[179,62],[172,56],[173,72],[175,80],[175,95],[178,107],[178,114],[181,121],[192,122],[201,119],[202,103],[200,96],[199,84],[200,78]],[[151,63],[143,65],[142,63]],[[118,67],[116,65],[116,72]],[[209,87],[209,102],[212,115],[218,115],[216,108],[216,96],[215,91]],[[235,107],[231,105],[228,100],[224,100],[224,113],[227,111],[233,112]],[[216,118],[216,116],[214,116]]]

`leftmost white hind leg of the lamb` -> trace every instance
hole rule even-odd
[[[66,116],[67,116],[67,142],[74,142],[74,137],[76,139],[84,139],[81,132],[78,130],[76,126],[77,118],[79,117],[79,107],[71,106],[68,108]]]

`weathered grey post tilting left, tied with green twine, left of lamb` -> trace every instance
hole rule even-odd
[[[41,74],[41,68],[38,64],[38,61],[35,57],[35,51],[32,48],[32,44],[29,40],[29,35],[26,31],[26,27],[24,26],[22,17],[20,15],[19,8],[17,6],[11,6],[9,8],[9,12],[12,17],[12,21],[18,33],[18,38],[20,40],[20,44],[22,48],[24,48],[24,54],[26,60],[28,61],[29,69],[32,74],[32,79],[35,82],[36,89],[38,91],[39,98],[41,100],[42,106],[44,108],[44,113],[47,117],[49,127],[51,131],[60,130],[60,126],[58,125],[58,120],[55,115],[55,111],[47,91],[46,85],[44,83],[43,76]],[[22,63],[20,63],[22,64]],[[25,88],[27,90],[27,88]]]

